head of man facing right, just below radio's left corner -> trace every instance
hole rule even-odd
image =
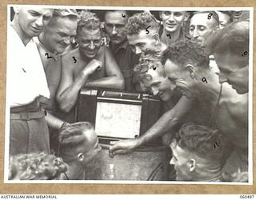
[[[86,167],[102,149],[90,122],[77,122],[59,134],[59,155],[67,163]]]

